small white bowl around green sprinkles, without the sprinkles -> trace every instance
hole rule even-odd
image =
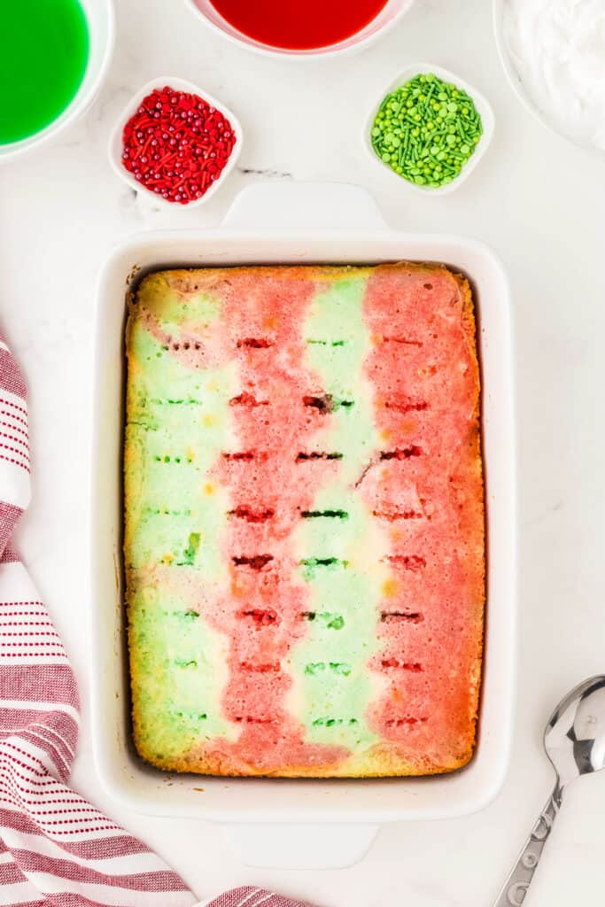
[[[410,182],[405,180],[398,173],[395,173],[394,170],[385,164],[384,161],[377,156],[376,151],[372,147],[372,127],[374,126],[374,121],[376,120],[376,113],[380,109],[380,105],[385,99],[385,95],[394,92],[395,89],[399,88],[401,85],[404,85],[410,79],[413,79],[418,73],[434,73],[438,76],[443,82],[452,82],[457,85],[459,88],[463,88],[464,91],[473,99],[474,105],[479,112],[481,117],[481,122],[483,124],[483,134],[481,139],[477,142],[473,155],[469,160],[464,164],[460,175],[455,177],[452,182],[446,183],[444,186],[439,186],[437,189],[432,188],[431,186],[418,186],[415,182]],[[394,178],[397,180],[400,186],[409,186],[411,189],[416,190],[417,192],[424,192],[428,195],[447,195],[449,192],[454,192],[464,183],[464,180],[468,180],[471,173],[477,168],[479,162],[483,158],[485,151],[489,148],[490,142],[493,139],[493,130],[495,127],[495,119],[493,116],[493,109],[491,104],[486,101],[483,97],[483,94],[477,91],[473,85],[470,85],[467,82],[464,82],[464,79],[461,79],[455,73],[450,73],[449,70],[444,69],[443,66],[437,66],[435,63],[410,63],[409,66],[405,67],[403,72],[393,79],[385,88],[383,92],[380,93],[380,96],[369,113],[369,116],[366,120],[366,126],[364,127],[364,146],[367,153],[372,158],[372,160],[383,170],[388,171]]]

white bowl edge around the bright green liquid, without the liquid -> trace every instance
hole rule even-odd
[[[112,0],[80,0],[80,2],[86,15],[89,35],[88,63],[82,84],[63,113],[43,130],[35,132],[27,139],[0,144],[0,163],[11,161],[18,154],[36,148],[43,141],[48,141],[62,132],[87,110],[101,87],[112,59],[115,31],[113,2]]]

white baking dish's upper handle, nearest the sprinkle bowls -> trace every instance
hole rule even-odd
[[[385,219],[370,193],[337,182],[259,182],[242,190],[223,227],[229,230],[380,230]]]

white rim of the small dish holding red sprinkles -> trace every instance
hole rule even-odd
[[[224,117],[226,117],[230,124],[232,131],[235,133],[236,142],[229,156],[229,161],[227,161],[225,167],[220,172],[218,180],[215,180],[210,189],[207,190],[199,199],[189,201],[186,205],[181,205],[177,201],[168,201],[162,199],[161,195],[157,192],[152,192],[151,189],[148,189],[138,180],[135,180],[129,171],[126,170],[122,165],[122,131],[126,123],[130,120],[133,113],[137,111],[137,108],[141,104],[143,98],[147,97],[154,89],[161,89],[165,85],[170,85],[171,88],[176,89],[178,92],[188,92],[190,94],[198,94],[201,98],[204,98],[205,101],[208,101],[212,107],[215,107]],[[198,208],[200,205],[205,204],[209,201],[212,196],[217,192],[222,184],[229,177],[229,173],[233,170],[236,163],[239,159],[239,154],[241,152],[241,146],[244,141],[244,132],[241,128],[241,123],[239,122],[238,117],[233,111],[229,109],[225,104],[220,102],[217,98],[213,97],[210,92],[205,91],[200,88],[199,85],[189,82],[187,79],[181,79],[176,75],[159,75],[155,79],[151,79],[148,83],[145,83],[138,92],[135,92],[132,95],[130,101],[122,108],[120,115],[117,117],[115,125],[112,129],[109,144],[107,146],[109,153],[109,160],[111,161],[113,170],[117,173],[121,180],[123,180],[128,186],[131,187],[135,192],[142,192],[143,194],[149,196],[150,199],[156,201],[162,208],[170,208],[171,210],[191,210],[191,208]]]

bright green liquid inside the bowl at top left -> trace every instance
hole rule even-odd
[[[88,26],[78,0],[0,0],[0,144],[56,120],[82,83]]]

